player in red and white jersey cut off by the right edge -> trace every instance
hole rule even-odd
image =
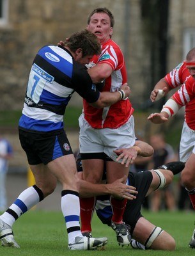
[[[164,110],[160,114],[152,114],[148,120],[152,122],[166,122],[169,116],[172,116],[178,109],[185,106],[185,121],[182,129],[180,140],[180,161],[186,162],[182,171],[182,183],[189,193],[192,205],[195,210],[195,48],[191,49],[183,61],[174,68],[166,77],[162,78],[151,93],[151,100],[160,99],[160,96],[180,86],[182,87],[176,92],[171,99],[164,105]],[[159,91],[160,90],[160,91]],[[158,94],[160,95],[158,97]],[[166,111],[166,112],[164,112]],[[191,248],[195,248],[195,228],[189,243]]]

